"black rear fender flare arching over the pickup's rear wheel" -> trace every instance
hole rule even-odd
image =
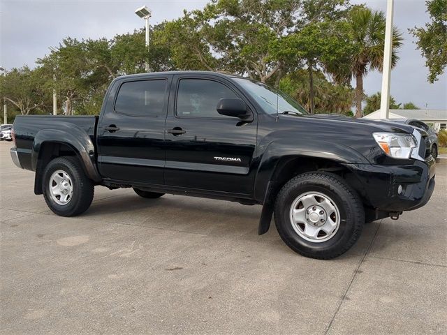
[[[101,181],[94,163],[94,144],[89,135],[74,124],[56,121],[54,126],[57,126],[57,128],[43,129],[38,131],[36,137],[34,137],[31,149],[31,168],[34,171],[37,170],[39,152],[45,142],[65,144],[78,154],[87,176],[94,181]]]

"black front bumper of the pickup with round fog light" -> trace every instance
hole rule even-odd
[[[356,191],[368,207],[387,213],[411,211],[427,204],[434,191],[434,159],[412,165],[347,164],[356,176]],[[400,191],[400,192],[399,192]]]

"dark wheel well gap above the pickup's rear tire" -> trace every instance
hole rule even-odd
[[[34,179],[34,193],[42,194],[43,171],[52,159],[61,156],[78,156],[78,152],[64,143],[44,142],[39,149],[36,165],[36,177]]]

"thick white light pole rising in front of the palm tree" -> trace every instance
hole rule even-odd
[[[387,0],[385,48],[383,50],[382,94],[380,118],[388,119],[390,114],[391,52],[393,51],[393,10],[394,0]]]

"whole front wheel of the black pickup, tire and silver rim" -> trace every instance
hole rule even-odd
[[[274,204],[281,239],[309,258],[335,258],[360,237],[365,213],[355,191],[336,174],[309,172],[281,188]]]

